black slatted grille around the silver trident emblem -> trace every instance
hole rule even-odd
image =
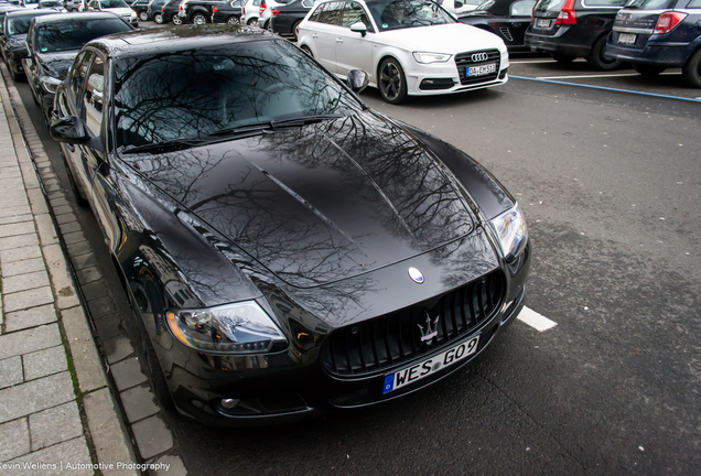
[[[432,353],[471,334],[493,317],[504,301],[500,271],[403,310],[333,332],[322,348],[322,364],[331,375],[370,375]],[[438,335],[421,342],[427,318],[438,321]],[[422,326],[422,327],[420,327]]]

